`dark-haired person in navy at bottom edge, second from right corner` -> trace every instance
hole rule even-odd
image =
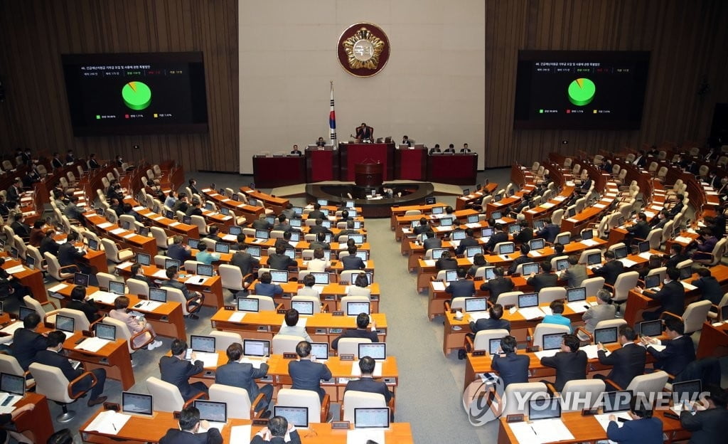
[[[609,415],[606,436],[619,444],[662,444],[662,421],[652,417],[652,405],[642,396],[630,400],[632,421],[617,423],[617,416]]]

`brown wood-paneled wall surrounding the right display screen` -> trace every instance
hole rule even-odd
[[[716,102],[728,101],[727,42],[724,0],[486,0],[486,168],[551,151],[703,141]],[[515,131],[518,50],[651,51],[641,130]],[[703,79],[711,92],[701,98]]]

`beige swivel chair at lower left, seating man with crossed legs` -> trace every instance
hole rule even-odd
[[[36,393],[60,404],[63,413],[55,417],[56,421],[60,423],[71,421],[76,416],[76,412],[68,410],[68,404],[82,397],[98,383],[95,375],[91,372],[84,372],[73,381],[68,381],[68,378],[63,375],[63,371],[59,367],[39,364],[38,362],[33,362],[28,370],[33,375],[33,379],[36,380]],[[83,392],[74,394],[74,386],[87,376],[91,378],[91,386]],[[155,407],[157,406],[155,405]]]

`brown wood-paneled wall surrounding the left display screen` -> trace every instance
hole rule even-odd
[[[1,1],[2,152],[73,148],[102,159],[121,154],[237,171],[237,17],[237,0]],[[203,52],[209,133],[74,138],[60,54],[157,51]]]

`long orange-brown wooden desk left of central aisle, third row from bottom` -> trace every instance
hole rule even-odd
[[[259,313],[246,313],[239,322],[231,321],[237,311],[229,311],[221,308],[210,319],[213,329],[229,332],[237,332],[248,339],[272,340],[273,336],[280,330],[283,324],[284,315],[275,311],[261,311]],[[332,316],[331,313],[315,313],[313,316],[306,316],[306,332],[316,342],[331,342],[341,335],[344,329],[355,329],[356,316]],[[371,318],[376,322],[376,331],[380,342],[387,341],[387,316],[384,313],[372,313]]]

